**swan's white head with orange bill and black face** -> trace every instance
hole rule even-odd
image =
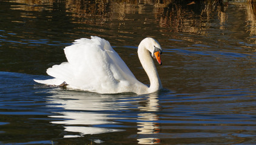
[[[146,37],[141,42],[145,45],[144,47],[150,51],[152,57],[157,59],[157,62],[162,65],[160,54],[163,53],[163,50],[157,40],[153,39],[152,37]]]

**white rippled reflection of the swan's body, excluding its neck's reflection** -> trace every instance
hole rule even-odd
[[[61,115],[52,115],[53,118],[64,118],[66,120],[52,121],[54,124],[65,124],[68,132],[79,132],[81,136],[86,134],[103,134],[107,132],[123,131],[121,129],[109,129],[104,127],[92,127],[97,124],[116,124],[108,121],[110,114],[102,113],[113,109],[121,109],[115,105],[110,95],[92,94],[79,91],[52,91],[49,103],[60,104],[63,112]],[[112,107],[114,106],[114,107]],[[83,126],[81,126],[83,125]],[[77,135],[66,135],[64,137],[78,137]]]

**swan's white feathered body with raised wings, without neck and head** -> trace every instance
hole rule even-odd
[[[68,62],[47,69],[47,74],[55,79],[37,82],[48,85],[66,82],[69,88],[106,94],[140,94],[147,88],[136,80],[107,40],[96,36],[78,39],[73,45],[64,48],[64,52]]]

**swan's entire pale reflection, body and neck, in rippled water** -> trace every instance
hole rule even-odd
[[[61,109],[53,111],[58,115],[49,117],[56,118],[55,121],[51,122],[53,124],[64,124],[64,130],[68,132],[64,138],[124,131],[115,128],[115,124],[116,126],[120,124],[115,120],[125,119],[118,117],[118,115],[120,115],[120,111],[129,111],[130,108],[143,112],[134,118],[137,120],[138,126],[136,135],[138,143],[160,143],[159,138],[151,137],[152,134],[155,137],[160,132],[160,126],[157,123],[159,117],[155,113],[159,110],[157,94],[144,96],[134,96],[134,94],[107,95],[58,89],[53,89],[50,94],[52,96],[47,99],[49,106]],[[103,125],[104,127],[101,127]]]

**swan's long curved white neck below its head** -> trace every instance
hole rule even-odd
[[[150,80],[148,92],[158,91],[162,88],[161,80],[158,76],[157,68],[155,68],[155,64],[153,63],[149,50],[144,47],[143,43],[140,43],[138,47],[138,57]]]

